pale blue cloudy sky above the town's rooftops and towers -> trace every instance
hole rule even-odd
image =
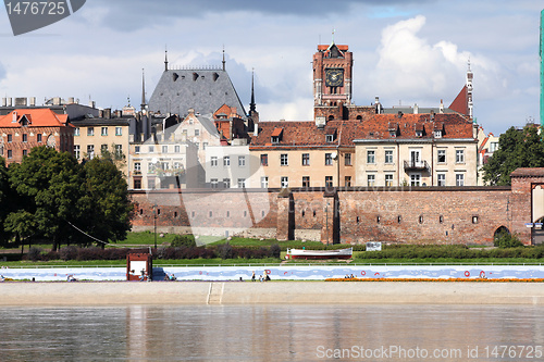
[[[71,16],[13,36],[0,11],[1,97],[74,97],[139,109],[171,66],[226,70],[261,121],[312,120],[318,43],[348,45],[353,98],[370,105],[449,105],[474,74],[486,133],[539,122],[540,13],[534,0],[88,0]],[[334,35],[333,35],[334,29]]]

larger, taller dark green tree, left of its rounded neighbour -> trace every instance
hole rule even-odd
[[[33,215],[26,224],[25,235],[42,235],[52,240],[53,250],[64,240],[70,244],[76,236],[69,223],[79,219],[77,203],[82,197],[82,173],[77,161],[67,152],[58,152],[46,146],[36,147],[18,165],[8,170],[10,184],[17,194],[23,209],[15,211],[10,221],[26,217],[21,210]],[[26,219],[25,219],[26,220]],[[15,229],[11,223],[11,229]],[[18,229],[18,232],[23,232]]]

